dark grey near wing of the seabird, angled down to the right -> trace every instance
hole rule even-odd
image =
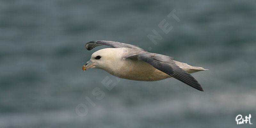
[[[148,52],[127,56],[126,58],[137,58],[139,60],[145,61],[152,65],[154,68],[174,77],[175,79],[178,79],[179,81],[188,84],[197,90],[204,91],[201,85],[193,76],[175,64],[173,61],[174,58],[172,57]]]

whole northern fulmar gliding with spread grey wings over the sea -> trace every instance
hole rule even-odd
[[[207,69],[190,66],[175,61],[173,57],[150,53],[138,46],[121,42],[90,41],[85,44],[85,48],[92,50],[100,45],[113,48],[94,52],[91,59],[83,66],[84,71],[89,68],[99,68],[113,76],[137,81],[158,81],[174,77],[197,90],[204,91],[190,74]]]

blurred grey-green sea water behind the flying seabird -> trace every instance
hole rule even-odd
[[[179,22],[167,17],[174,9]],[[0,127],[256,127],[255,15],[253,0],[2,0]],[[164,19],[173,27],[167,34],[158,27]],[[147,37],[152,30],[162,36],[156,45]],[[107,47],[87,51],[92,40],[209,69],[193,74],[205,92],[174,78],[84,72],[91,54]],[[96,98],[93,89],[105,95]],[[239,114],[251,114],[252,124],[237,125]]]

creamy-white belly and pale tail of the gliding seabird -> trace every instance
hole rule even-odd
[[[107,69],[106,71],[119,78],[137,81],[158,81],[171,77],[141,60],[124,59],[118,63],[119,64],[115,66],[115,69]],[[189,74],[205,70],[204,68],[193,67],[178,61],[175,61],[175,63]]]

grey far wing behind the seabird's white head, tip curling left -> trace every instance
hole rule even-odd
[[[121,42],[115,42],[115,41],[106,41],[106,40],[98,40],[98,41],[90,41],[88,43],[85,44],[85,48],[87,50],[92,50],[93,48],[100,46],[100,45],[107,45],[113,48],[123,48],[123,47],[127,47],[127,48],[132,48],[132,49],[138,49],[138,50],[142,50],[145,51],[144,49],[132,45],[132,44],[125,44],[125,43],[121,43]]]

